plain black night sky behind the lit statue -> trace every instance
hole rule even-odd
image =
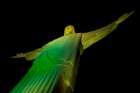
[[[115,21],[124,13],[136,11],[135,0],[46,6],[4,8],[0,18],[0,93],[8,93],[32,65],[32,61],[24,58],[8,57],[32,51],[62,36],[67,25],[74,25],[76,32],[88,32]],[[136,13],[112,34],[84,51],[75,93],[133,91],[138,69],[132,57],[138,33]]]

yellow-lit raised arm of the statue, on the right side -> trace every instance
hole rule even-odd
[[[109,35],[112,31],[114,31],[118,27],[118,25],[120,23],[125,21],[133,13],[134,13],[134,11],[132,11],[130,13],[126,13],[126,14],[122,15],[121,17],[119,17],[118,20],[116,20],[115,22],[112,22],[111,24],[109,24],[105,27],[102,27],[102,28],[99,28],[97,30],[90,31],[87,33],[82,33],[81,42],[83,45],[83,49],[90,47],[92,44],[98,42],[102,38]]]

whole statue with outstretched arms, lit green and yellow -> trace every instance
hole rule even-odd
[[[76,33],[74,27],[69,25],[64,29],[64,36],[34,51],[11,57],[25,57],[27,61],[34,62],[10,93],[72,93],[80,55],[114,31],[132,13],[126,13],[111,24],[86,33]]]

